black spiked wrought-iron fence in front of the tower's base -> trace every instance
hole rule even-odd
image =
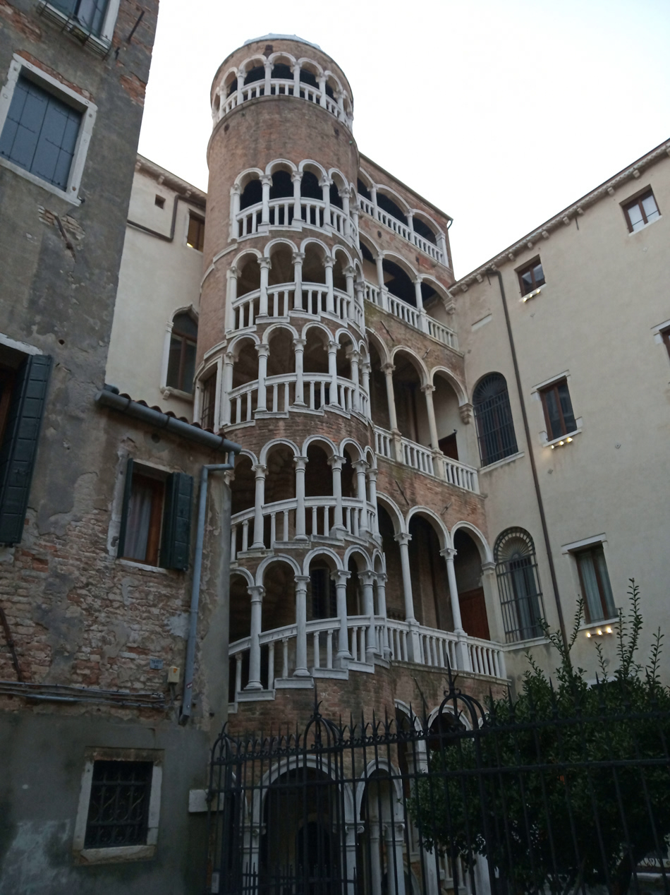
[[[670,712],[598,706],[485,711],[450,675],[431,713],[224,732],[206,891],[668,893]]]

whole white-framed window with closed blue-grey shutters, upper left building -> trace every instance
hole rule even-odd
[[[0,165],[74,205],[97,107],[22,56],[0,92]]]

